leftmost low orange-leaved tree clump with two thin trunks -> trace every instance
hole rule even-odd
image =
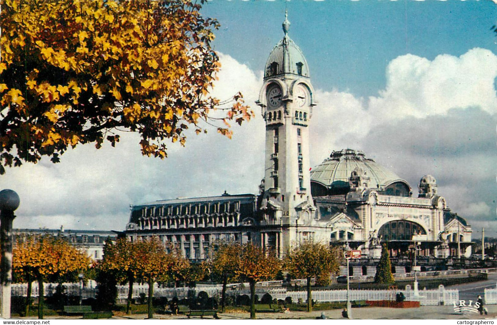
[[[43,283],[50,276],[63,277],[88,268],[90,259],[63,238],[54,236],[29,237],[14,245],[12,270],[28,282],[26,316],[29,313],[31,279],[38,281],[38,318],[43,319]]]

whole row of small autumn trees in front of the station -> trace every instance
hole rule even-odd
[[[221,311],[224,312],[226,286],[231,281],[248,282],[250,286],[250,318],[255,318],[255,283],[274,279],[280,271],[291,277],[306,278],[308,292],[307,310],[312,310],[311,278],[328,284],[331,274],[337,274],[341,251],[320,243],[306,242],[287,252],[284,260],[277,259],[251,243],[223,243],[213,258],[192,264],[174,247],[165,246],[157,237],[131,242],[118,239],[107,241],[103,260],[91,263],[85,254],[62,238],[44,236],[18,242],[13,252],[14,277],[27,282],[28,297],[25,312],[29,313],[31,283],[38,281],[43,297],[43,282],[75,281],[77,274],[88,269],[96,270],[97,299],[107,305],[115,302],[117,283],[128,283],[129,293],[126,312],[130,313],[133,283],[147,282],[148,316],[153,316],[152,298],[154,284],[181,281],[199,281],[207,278],[223,284]],[[110,306],[109,306],[110,307]],[[43,299],[39,299],[38,317],[43,318]]]

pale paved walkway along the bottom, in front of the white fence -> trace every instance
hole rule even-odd
[[[489,310],[488,315],[481,316],[480,314],[456,314],[454,313],[453,306],[421,306],[419,308],[380,308],[380,307],[363,307],[353,308],[354,319],[490,319],[497,318],[497,305],[487,305]],[[311,313],[306,312],[289,312],[289,313],[257,313],[257,319],[316,319],[321,316],[322,311],[315,311]],[[324,311],[327,318],[341,319],[341,309],[332,309]],[[225,313],[218,314],[220,319],[248,319],[248,313]],[[78,319],[81,317],[61,317],[61,316],[47,316],[45,319]],[[130,316],[114,316],[114,320],[146,319],[146,314],[130,315]],[[186,319],[184,315],[154,315],[156,319]],[[22,318],[26,319],[26,318]],[[34,318],[31,318],[34,319]],[[191,319],[200,319],[200,317],[192,317]],[[212,317],[205,317],[204,319],[212,319]]]

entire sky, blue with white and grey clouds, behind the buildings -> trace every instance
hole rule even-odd
[[[170,144],[168,158],[142,157],[137,134],[112,148],[91,144],[7,169],[1,188],[21,204],[16,228],[124,230],[130,204],[258,193],[264,122],[254,101],[269,53],[289,36],[310,67],[318,105],[310,126],[311,165],[332,150],[367,157],[417,184],[433,175],[438,194],[473,227],[497,237],[497,38],[490,0],[211,0],[214,49],[222,64],[213,94],[241,91],[255,118],[230,140],[211,130]]]

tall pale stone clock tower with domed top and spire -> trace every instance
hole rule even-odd
[[[302,240],[301,232],[293,228],[313,224],[316,213],[309,172],[314,90],[307,61],[288,36],[287,14],[282,26],[284,37],[269,55],[256,102],[266,123],[260,210],[261,225],[266,226],[267,232],[261,234],[261,244],[276,249],[279,256],[283,247]]]

